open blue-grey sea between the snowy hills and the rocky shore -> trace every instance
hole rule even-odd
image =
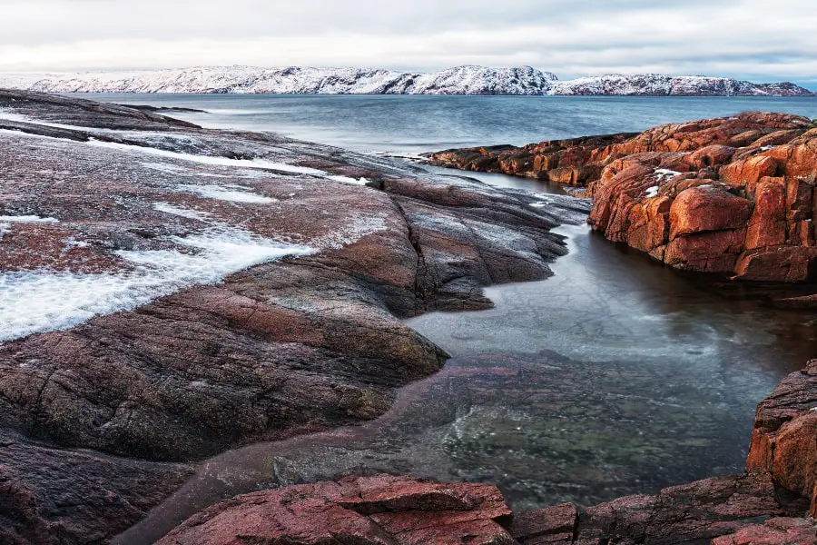
[[[184,106],[211,128],[275,131],[357,152],[422,153],[486,144],[643,131],[768,110],[817,117],[817,97],[75,94],[120,104]]]

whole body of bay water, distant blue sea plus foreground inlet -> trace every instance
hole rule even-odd
[[[173,115],[363,152],[525,144],[745,110],[817,117],[817,99],[90,97],[201,108],[212,113]],[[558,193],[525,179],[477,176]],[[754,406],[817,356],[817,313],[724,299],[584,225],[560,232],[570,253],[553,278],[489,288],[496,302],[489,311],[408,321],[453,357],[401,391],[389,413],[356,428],[226,452],[121,542],[152,542],[224,496],[351,472],[491,482],[515,509],[531,509],[742,471]]]

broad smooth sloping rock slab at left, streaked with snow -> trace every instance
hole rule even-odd
[[[105,542],[196,461],[379,416],[446,359],[399,317],[545,278],[582,215],[42,94],[0,133],[3,542]]]

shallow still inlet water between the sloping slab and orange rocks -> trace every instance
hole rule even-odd
[[[815,353],[815,316],[724,300],[586,226],[560,231],[571,253],[554,278],[409,322],[454,357],[386,415],[226,452],[119,542],[151,543],[222,497],[349,473],[490,482],[525,510],[742,471],[754,406]]]

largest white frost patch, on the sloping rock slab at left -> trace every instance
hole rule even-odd
[[[133,264],[133,270],[126,272],[0,273],[0,342],[133,310],[193,285],[221,282],[226,275],[253,265],[316,252],[309,246],[276,243],[226,225],[172,241],[193,252],[117,252]]]

